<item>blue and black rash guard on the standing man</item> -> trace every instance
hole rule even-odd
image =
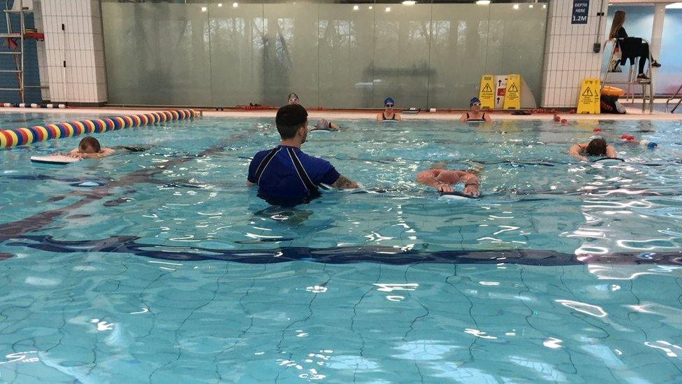
[[[339,176],[328,161],[296,147],[278,145],[256,153],[247,180],[258,185],[258,196],[269,204],[294,206],[319,196],[319,185],[331,185]]]

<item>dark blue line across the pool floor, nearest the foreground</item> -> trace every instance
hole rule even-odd
[[[414,250],[383,246],[334,248],[281,247],[273,249],[221,250],[186,246],[138,243],[136,236],[112,236],[99,240],[59,241],[52,236],[19,236],[6,242],[7,247],[27,247],[51,253],[124,253],[154,259],[175,261],[224,260],[247,264],[281,262],[319,262],[351,264],[523,264],[535,266],[567,266],[584,264],[658,264],[682,265],[682,253],[610,253],[607,255],[573,255],[553,250]],[[4,256],[3,256],[4,255]],[[0,254],[9,259],[11,254]]]

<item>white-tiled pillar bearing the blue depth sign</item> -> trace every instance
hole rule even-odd
[[[574,108],[583,78],[600,78],[602,53],[594,43],[604,44],[608,0],[592,0],[587,24],[571,24],[573,0],[549,1],[544,53],[541,105]]]

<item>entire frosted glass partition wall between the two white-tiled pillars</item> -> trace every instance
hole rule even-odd
[[[461,108],[484,73],[540,95],[535,3],[104,0],[110,104]]]

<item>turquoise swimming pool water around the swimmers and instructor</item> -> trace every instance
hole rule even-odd
[[[303,150],[363,190],[288,209],[245,187],[271,122],[100,134],[150,149],[71,166],[29,157],[80,138],[0,151],[0,380],[682,380],[678,122],[343,121]],[[597,126],[661,147],[565,155]],[[415,183],[442,160],[482,164],[484,198]]]

